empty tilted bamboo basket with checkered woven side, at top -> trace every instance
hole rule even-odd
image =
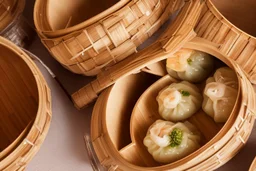
[[[34,20],[41,41],[57,61],[74,73],[93,76],[137,52],[183,4],[183,0],[63,4],[37,0]]]

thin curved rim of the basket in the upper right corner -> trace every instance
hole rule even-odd
[[[252,37],[254,39],[256,39],[255,36],[250,35],[249,33],[243,31],[242,29],[240,29],[239,27],[237,27],[236,25],[234,25],[231,21],[229,21],[219,10],[218,8],[214,5],[214,3],[212,2],[212,0],[206,0],[207,6],[211,9],[213,8],[214,11],[216,11],[217,13],[214,14],[218,14],[219,16],[216,16],[218,18],[222,18],[225,22],[224,23],[228,23],[229,25],[231,25],[232,27],[236,28],[238,31],[244,33],[245,35]]]

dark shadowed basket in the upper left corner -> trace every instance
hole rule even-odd
[[[0,35],[16,45],[24,47],[34,35],[22,12],[25,0],[1,0],[0,2]]]

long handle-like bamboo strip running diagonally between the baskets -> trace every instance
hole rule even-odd
[[[203,4],[200,1],[187,1],[174,23],[169,26],[156,43],[110,67],[98,75],[95,81],[74,93],[72,98],[75,106],[82,108],[94,101],[98,93],[118,79],[136,73],[147,65],[164,60],[180,49],[184,43],[195,37],[193,27],[202,7]]]

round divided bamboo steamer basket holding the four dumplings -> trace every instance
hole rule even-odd
[[[165,76],[147,88],[156,76],[130,75],[105,90],[93,110],[91,140],[101,165],[110,170],[125,171],[214,170],[245,145],[253,128],[256,109],[256,96],[247,96],[248,93],[255,94],[250,81],[239,65],[217,48],[194,43],[193,49],[216,56],[237,73],[238,96],[227,122],[216,124],[202,110],[197,112],[188,120],[202,133],[202,147],[176,162],[157,163],[143,145],[143,138],[149,126],[161,118],[156,101],[158,92],[177,80]]]

